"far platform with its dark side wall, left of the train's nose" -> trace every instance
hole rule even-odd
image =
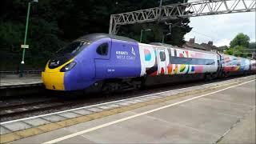
[[[40,74],[25,74],[19,78],[18,74],[1,75],[0,97],[32,94],[42,88]]]

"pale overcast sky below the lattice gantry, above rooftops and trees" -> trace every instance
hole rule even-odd
[[[255,42],[255,12],[220,14],[190,18],[193,29],[185,35],[186,41],[195,37],[195,42],[213,41],[215,46],[229,46],[238,34],[247,34]]]

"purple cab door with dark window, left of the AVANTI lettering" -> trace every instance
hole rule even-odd
[[[111,70],[110,55],[111,55],[111,41],[101,42],[95,50],[95,78],[107,78]]]

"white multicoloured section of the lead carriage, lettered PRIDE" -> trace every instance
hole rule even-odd
[[[140,43],[139,47],[141,76],[149,76],[146,79],[148,85],[217,77],[218,54],[162,43]]]

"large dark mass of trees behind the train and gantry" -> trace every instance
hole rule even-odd
[[[166,1],[163,5],[177,2],[183,0]],[[38,3],[32,3],[27,35],[30,49],[26,50],[25,58],[26,66],[29,66],[27,69],[42,68],[50,55],[66,42],[85,34],[108,33],[110,14],[158,5],[155,0],[39,0]],[[24,38],[27,6],[28,1],[24,0],[2,0],[0,5],[0,61],[13,62],[10,66],[14,67],[21,61],[20,45]],[[172,34],[165,38],[166,43],[181,46],[184,34],[191,30],[188,26],[190,20],[185,18],[170,22],[176,25]],[[140,31],[148,28],[152,31],[144,35],[143,42],[146,43],[162,42],[162,35],[169,33],[164,22],[150,22],[121,26],[118,35],[139,40]]]

